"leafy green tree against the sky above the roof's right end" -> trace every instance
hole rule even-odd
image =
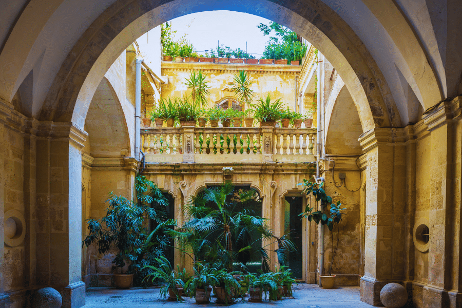
[[[294,31],[275,22],[269,22],[269,25],[259,24],[258,28],[263,35],[270,35],[272,32],[276,35],[271,36],[266,43],[262,59],[287,59],[287,63],[290,63],[300,61],[305,56],[307,46],[300,42]]]

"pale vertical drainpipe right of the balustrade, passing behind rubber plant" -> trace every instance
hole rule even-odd
[[[319,161],[321,158],[321,71],[322,71],[322,58],[320,57],[320,54],[318,52],[318,67],[316,69],[316,77],[318,79],[317,82],[317,93],[318,93],[318,98],[317,98],[317,133],[316,133],[316,178],[319,178]],[[320,203],[318,203],[318,206]],[[324,225],[321,224],[319,226],[319,263],[320,263],[320,268],[321,271],[319,272],[319,275],[324,274]],[[322,286],[321,284],[321,279],[319,279],[318,282],[319,286]]]

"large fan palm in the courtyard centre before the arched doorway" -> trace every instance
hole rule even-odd
[[[185,207],[185,216],[189,219],[173,232],[185,253],[193,254],[195,261],[233,271],[236,262],[245,268],[239,254],[251,251],[252,245],[263,238],[278,243],[275,252],[278,260],[285,263],[286,252],[294,250],[294,244],[285,236],[276,237],[266,219],[256,216],[248,208],[238,207],[238,203],[247,203],[257,196],[255,190],[236,192],[233,184],[226,182],[222,186],[208,187],[202,194],[190,198]],[[191,251],[186,251],[188,247]],[[239,247],[242,248],[236,251]],[[269,271],[267,249],[259,247],[259,252],[263,271]]]

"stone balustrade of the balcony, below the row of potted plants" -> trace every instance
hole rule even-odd
[[[153,163],[315,162],[316,128],[161,127],[141,129]]]

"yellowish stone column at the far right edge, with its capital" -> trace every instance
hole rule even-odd
[[[462,97],[442,102],[422,117],[430,133],[431,166],[426,307],[460,307],[460,113]],[[448,292],[448,290],[451,290]]]

